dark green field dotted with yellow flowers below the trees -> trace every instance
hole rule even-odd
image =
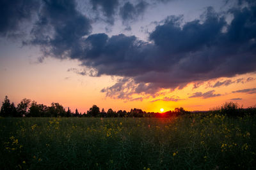
[[[1,169],[254,169],[255,117],[0,118]]]

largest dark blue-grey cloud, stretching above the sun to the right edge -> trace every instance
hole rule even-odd
[[[212,8],[207,8],[203,22],[193,20],[183,27],[182,17],[168,17],[150,33],[152,43],[124,34],[93,34],[84,41],[84,55],[72,58],[93,67],[97,76],[132,78],[132,84],[124,79],[103,90],[107,96],[117,98],[127,97],[124,94],[154,94],[161,88],[182,89],[193,81],[250,73],[256,70],[255,11],[254,6],[230,10],[234,15],[230,25]],[[223,27],[227,31],[222,32]],[[215,87],[230,83],[231,80],[219,82]],[[125,93],[125,89],[132,91]]]

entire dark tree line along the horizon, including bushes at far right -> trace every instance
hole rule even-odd
[[[105,111],[93,105],[87,112],[81,113],[77,109],[72,112],[69,108],[66,111],[60,103],[51,103],[51,106],[38,104],[30,99],[22,99],[17,106],[10,102],[7,96],[1,106],[0,117],[173,117],[178,115],[189,115],[190,112],[184,108],[175,108],[174,111],[166,111],[164,113],[146,112],[141,109],[131,109],[130,111],[113,111],[111,108]],[[198,113],[198,112],[196,112]],[[200,112],[199,112],[200,113]],[[229,102],[220,107],[212,108],[204,113],[227,115],[229,117],[243,117],[245,115],[256,115],[255,107],[243,108],[237,103]]]

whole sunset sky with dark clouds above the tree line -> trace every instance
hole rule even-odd
[[[4,0],[0,11],[1,103],[256,106],[253,0]]]

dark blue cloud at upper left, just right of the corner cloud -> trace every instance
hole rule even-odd
[[[81,55],[83,36],[92,29],[90,20],[76,10],[71,0],[44,0],[38,21],[31,30],[31,41],[45,55],[66,58]]]

